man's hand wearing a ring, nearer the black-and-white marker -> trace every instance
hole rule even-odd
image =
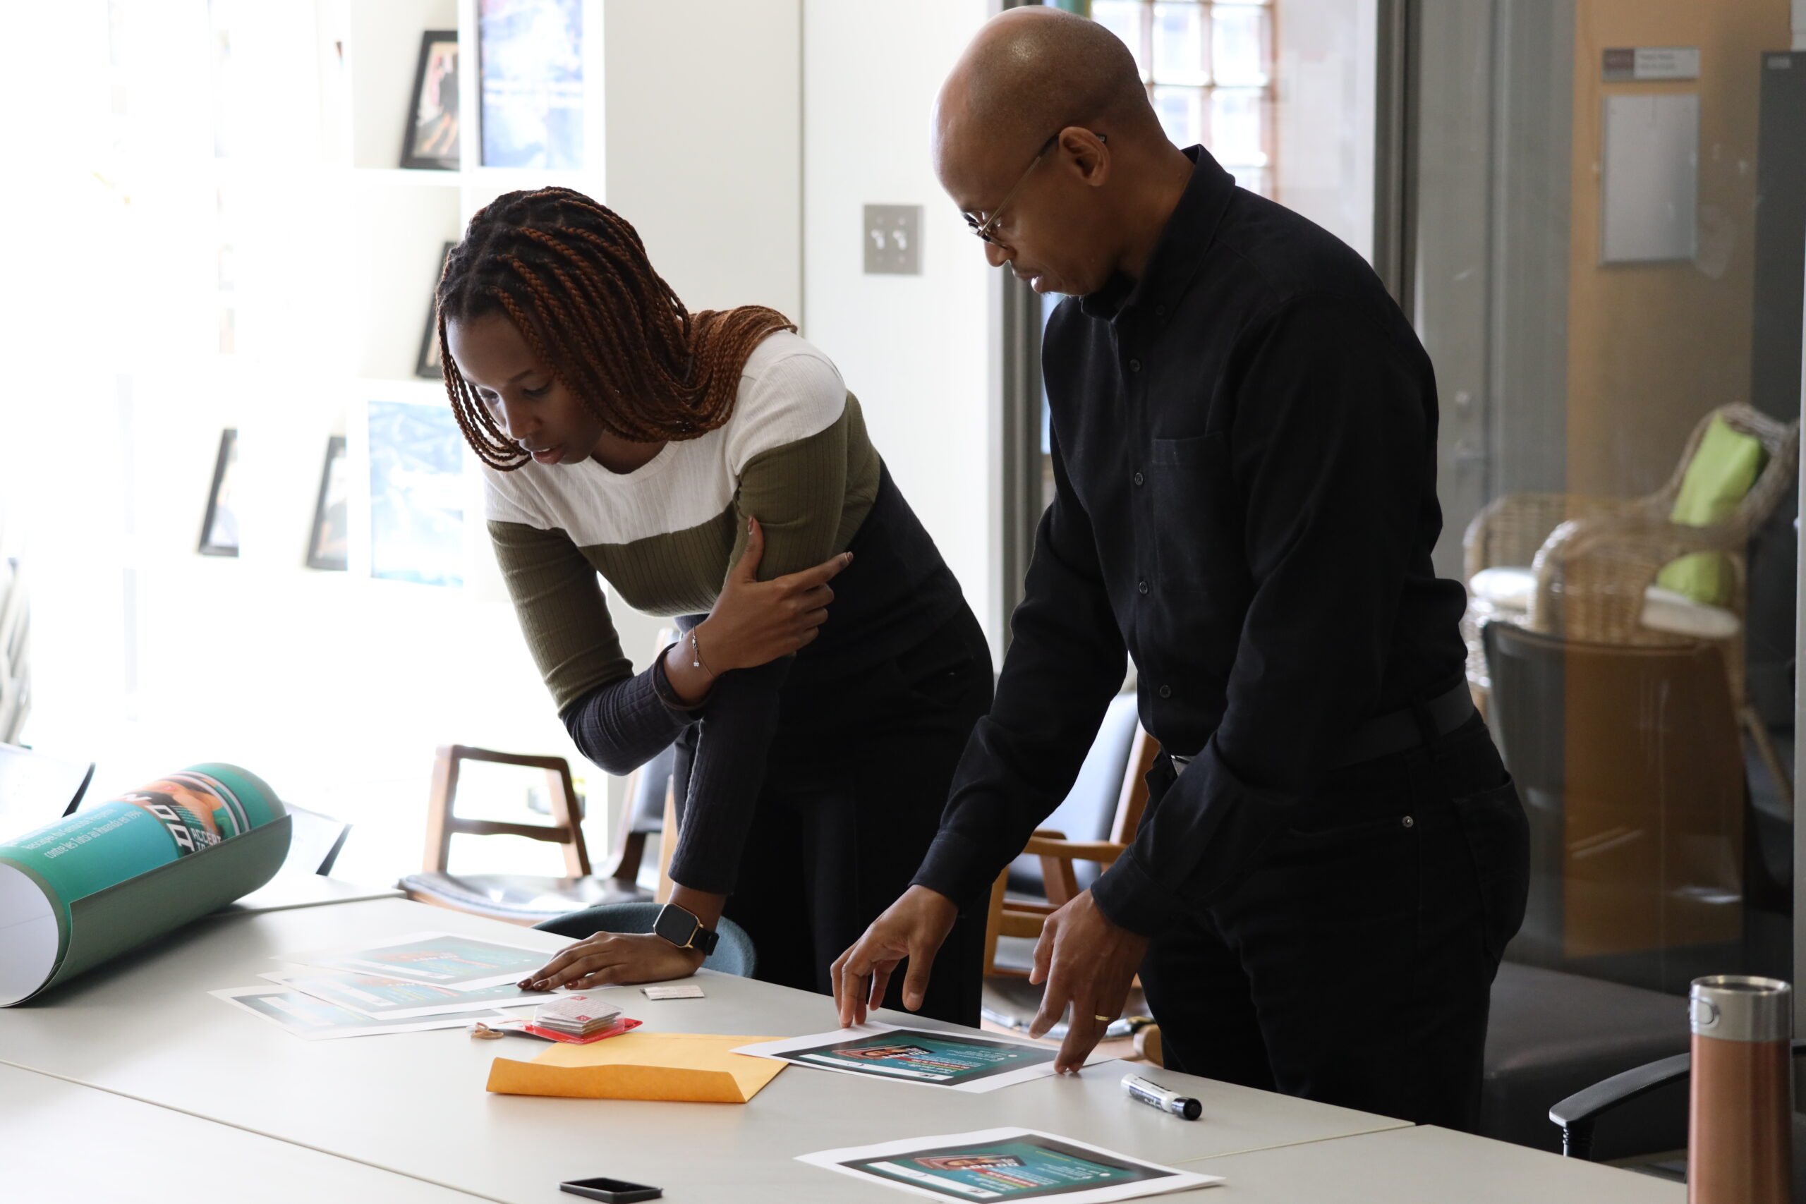
[[[1075,1074],[1085,1065],[1085,1056],[1102,1040],[1103,1029],[1122,1014],[1143,953],[1147,937],[1103,919],[1089,890],[1047,917],[1040,940],[1035,942],[1035,969],[1028,977],[1047,987],[1028,1033],[1038,1038],[1058,1023],[1067,1004],[1073,1005],[1055,1070]]]

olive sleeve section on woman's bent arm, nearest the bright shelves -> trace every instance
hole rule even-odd
[[[563,531],[491,520],[489,542],[560,713],[596,686],[632,677],[596,569]]]

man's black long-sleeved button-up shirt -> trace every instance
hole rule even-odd
[[[1461,681],[1429,356],[1354,251],[1187,153],[1141,280],[1047,325],[1055,500],[916,875],[963,906],[1071,789],[1123,652],[1196,756],[1093,886],[1140,933],[1233,884],[1364,720]]]

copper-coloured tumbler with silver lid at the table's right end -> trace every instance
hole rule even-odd
[[[1694,978],[1689,1204],[1788,1204],[1793,1172],[1793,989]]]

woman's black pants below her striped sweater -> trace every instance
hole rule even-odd
[[[923,643],[851,679],[805,671],[798,659],[726,906],[753,939],[759,978],[833,993],[834,959],[921,866],[991,682],[984,632],[964,605]],[[679,798],[688,756],[679,740]],[[984,915],[961,917],[921,1014],[975,1027],[982,959]],[[899,969],[885,1005],[901,1000]]]

